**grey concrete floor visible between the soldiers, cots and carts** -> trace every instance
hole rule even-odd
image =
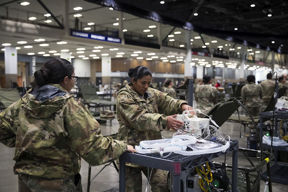
[[[118,122],[116,119],[112,120],[112,126],[110,126],[110,122],[106,122],[101,124],[102,134],[103,135],[110,135],[116,133],[118,131]],[[247,140],[246,136],[249,134],[249,128],[246,129],[244,132],[244,128],[241,128],[241,138],[240,137],[240,124],[233,123],[233,122],[225,122],[220,132],[225,133],[225,135],[229,135],[231,139],[239,140],[239,147],[247,148]],[[172,131],[163,131],[162,136],[165,138],[169,138],[173,135],[174,132]],[[15,192],[18,190],[17,186],[17,175],[13,174],[13,166],[14,161],[12,160],[14,154],[14,148],[8,148],[2,144],[0,144],[0,192]],[[224,162],[230,164],[232,161],[231,155],[232,153],[228,153],[226,156],[218,157],[214,159],[217,162]],[[252,158],[252,161],[258,162],[258,159]],[[286,162],[281,162],[286,163]],[[271,161],[273,164],[273,161]],[[112,165],[112,164],[111,164]],[[239,153],[238,155],[238,166],[249,165],[247,159]],[[101,170],[104,165],[101,166],[94,166],[92,167],[91,171],[91,179],[95,174]],[[265,170],[265,167],[263,167]],[[88,180],[88,164],[85,161],[82,161],[82,167],[80,170],[80,174],[82,175],[82,185],[83,191],[87,191],[87,180]],[[142,180],[142,191],[144,192],[146,189],[147,179],[143,176]],[[119,191],[119,175],[113,166],[107,166],[104,170],[91,182],[90,192],[116,192]],[[265,187],[265,182],[261,180],[261,189],[263,191]],[[274,192],[282,192],[287,191],[287,185],[279,184],[279,183],[272,183],[272,190]],[[149,190],[147,190],[149,191]],[[268,191],[268,190],[267,190]]]

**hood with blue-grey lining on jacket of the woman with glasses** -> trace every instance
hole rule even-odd
[[[49,84],[30,89],[22,97],[22,110],[28,118],[48,118],[73,97],[60,84]]]

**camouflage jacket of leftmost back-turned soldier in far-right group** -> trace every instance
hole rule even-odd
[[[262,98],[262,88],[260,85],[250,82],[241,89],[241,97],[244,106],[260,107]]]

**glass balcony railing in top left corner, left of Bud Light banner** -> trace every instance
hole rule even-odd
[[[55,17],[63,25],[62,15]],[[46,26],[60,27],[59,24],[51,16],[46,17],[43,13],[31,11],[28,12],[11,7],[0,6],[0,18],[20,22],[37,23]]]

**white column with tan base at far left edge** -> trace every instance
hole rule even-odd
[[[5,88],[11,88],[13,82],[17,82],[17,49],[5,47]],[[19,85],[21,86],[21,85]]]

